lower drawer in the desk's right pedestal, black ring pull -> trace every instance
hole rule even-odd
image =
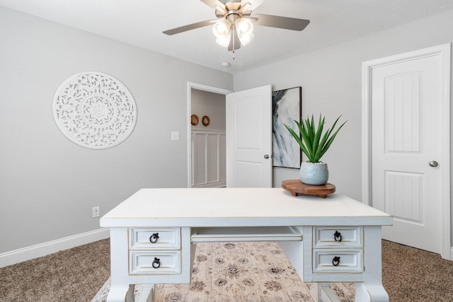
[[[362,249],[320,249],[313,251],[314,273],[363,272]]]

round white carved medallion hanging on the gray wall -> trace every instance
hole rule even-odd
[[[83,72],[58,87],[53,113],[68,139],[86,148],[106,149],[129,137],[137,107],[130,91],[113,76]]]

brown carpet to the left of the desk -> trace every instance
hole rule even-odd
[[[110,277],[110,240],[0,268],[1,302],[87,302]]]

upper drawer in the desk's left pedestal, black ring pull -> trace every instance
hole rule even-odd
[[[130,248],[134,250],[179,250],[180,228],[131,228]]]

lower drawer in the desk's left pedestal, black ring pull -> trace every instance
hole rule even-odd
[[[180,274],[181,255],[175,251],[131,251],[130,274]]]

